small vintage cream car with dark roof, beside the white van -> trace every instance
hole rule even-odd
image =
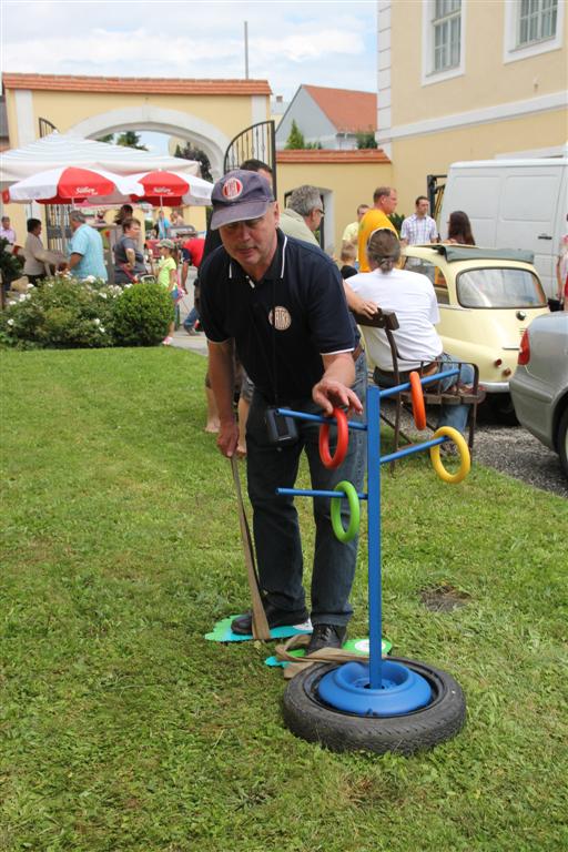
[[[479,383],[497,410],[511,414],[509,378],[520,338],[549,313],[532,254],[469,245],[409,245],[404,267],[427,275],[439,305],[444,351],[479,367]]]

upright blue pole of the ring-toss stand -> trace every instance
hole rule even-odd
[[[373,385],[367,388],[367,493],[369,686],[371,689],[381,689],[381,392]]]

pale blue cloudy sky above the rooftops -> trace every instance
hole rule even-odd
[[[376,0],[0,0],[2,70],[375,91]]]

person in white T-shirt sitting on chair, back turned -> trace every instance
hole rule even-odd
[[[372,304],[383,311],[394,311],[398,328],[393,333],[398,349],[400,382],[408,382],[414,369],[423,368],[423,375],[429,376],[457,366],[457,358],[443,352],[442,341],[435,326],[439,323],[436,294],[426,275],[396,268],[400,257],[400,243],[393,231],[378,229],[371,234],[367,243],[367,257],[371,272],[353,275],[348,284],[344,282],[349,307],[358,313],[372,313]],[[388,338],[383,328],[364,327],[367,354],[376,364],[375,381],[384,387],[394,387],[393,356]],[[448,390],[459,383],[473,385],[474,367],[462,364],[459,376],[448,376],[440,381],[439,390]],[[442,405],[437,427],[453,426],[465,432],[469,405]]]

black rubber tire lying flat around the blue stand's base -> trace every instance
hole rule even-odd
[[[432,687],[430,703],[407,716],[368,717],[336,710],[324,703],[317,684],[334,663],[310,666],[296,674],[284,693],[284,721],[308,742],[332,751],[387,751],[413,754],[449,740],[463,728],[466,701],[460,686],[445,671],[424,662],[389,657],[422,674]]]

